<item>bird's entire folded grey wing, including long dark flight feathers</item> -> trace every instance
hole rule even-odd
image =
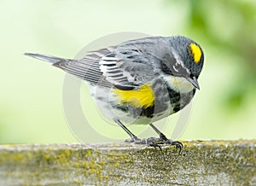
[[[125,44],[93,51],[80,60],[59,61],[53,65],[92,84],[130,90],[157,76],[152,61],[158,59],[149,55],[137,45]]]

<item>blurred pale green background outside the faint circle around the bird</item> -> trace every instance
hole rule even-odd
[[[23,53],[70,58],[113,32],[201,44],[201,90],[182,139],[256,137],[256,1],[2,0],[0,14],[0,143],[77,142],[62,110],[65,73]]]

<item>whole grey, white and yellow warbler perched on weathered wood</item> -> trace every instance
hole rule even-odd
[[[102,113],[113,119],[130,142],[159,147],[183,144],[168,139],[153,122],[177,113],[199,90],[204,63],[201,46],[183,36],[148,37],[91,51],[83,58],[62,59],[26,53],[88,82]],[[150,125],[160,136],[140,139],[126,124]]]

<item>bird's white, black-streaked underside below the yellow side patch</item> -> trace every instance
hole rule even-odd
[[[90,86],[90,93],[95,98],[96,106],[105,119],[120,119],[125,125],[147,125],[166,118],[172,113],[177,113],[189,104],[195,92],[176,93],[169,95],[168,98],[157,96],[154,104],[147,108],[131,106],[129,103],[120,104],[113,91],[108,88]]]

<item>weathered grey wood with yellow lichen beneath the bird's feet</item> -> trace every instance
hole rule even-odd
[[[0,145],[0,185],[256,185],[256,140]]]

